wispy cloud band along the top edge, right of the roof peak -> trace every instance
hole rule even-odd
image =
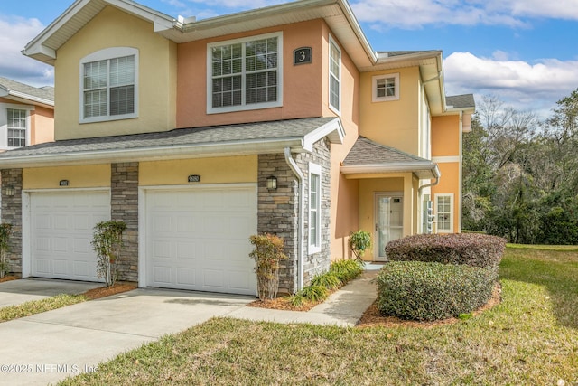
[[[578,20],[576,0],[362,0],[351,1],[360,22],[376,29],[424,25],[528,26],[526,18]]]

